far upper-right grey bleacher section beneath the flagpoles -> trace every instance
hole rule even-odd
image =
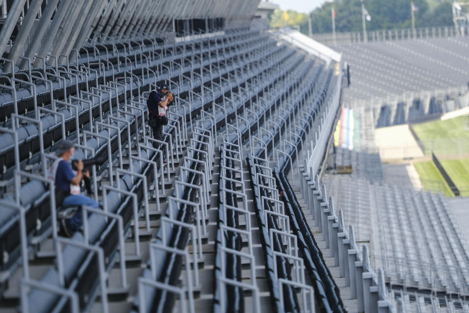
[[[334,45],[350,65],[350,108],[373,108],[376,127],[437,117],[469,105],[467,36]]]

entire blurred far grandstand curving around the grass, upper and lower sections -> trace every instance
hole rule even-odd
[[[373,267],[384,269],[398,311],[469,311],[469,249],[448,201],[409,179],[387,181],[374,139],[375,128],[468,106],[467,41],[445,35],[333,45],[350,65],[342,103],[359,116],[359,142],[330,150],[353,173],[327,173],[322,182],[355,225],[356,241],[369,247]]]

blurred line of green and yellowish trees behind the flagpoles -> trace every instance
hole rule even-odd
[[[411,27],[410,0],[364,0],[371,21],[366,22],[367,30]],[[415,27],[451,26],[452,0],[414,0]],[[336,12],[336,32],[362,30],[362,1],[336,0],[325,2],[311,15],[313,33],[331,33],[331,9]],[[271,27],[299,25],[300,31],[308,34],[308,14],[293,10],[276,10],[270,16]]]

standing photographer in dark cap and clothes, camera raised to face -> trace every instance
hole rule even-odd
[[[165,98],[164,100],[162,100]],[[163,140],[163,125],[168,125],[166,110],[173,100],[173,94],[168,90],[168,86],[162,85],[151,90],[147,98],[149,111],[148,124],[153,130],[153,138]],[[156,148],[156,144],[153,143]]]

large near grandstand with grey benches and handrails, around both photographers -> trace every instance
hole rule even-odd
[[[2,6],[1,312],[395,312],[316,175],[341,56],[250,29],[257,4]],[[165,82],[159,141],[146,96]],[[72,238],[47,175],[65,138],[104,160],[87,195],[102,209],[75,208]]]

